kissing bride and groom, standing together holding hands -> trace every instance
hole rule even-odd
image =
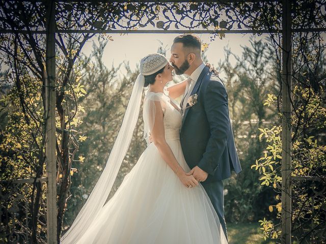
[[[222,180],[232,171],[238,174],[241,166],[228,94],[211,70],[193,34],[174,39],[169,60],[158,53],[141,59],[106,166],[61,243],[228,243]],[[189,78],[166,88],[174,72]],[[137,123],[144,87],[147,147],[106,202]]]

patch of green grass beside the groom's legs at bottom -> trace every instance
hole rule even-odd
[[[228,224],[229,244],[274,244],[273,240],[261,238],[259,223]]]

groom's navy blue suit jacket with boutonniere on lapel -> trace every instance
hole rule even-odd
[[[228,94],[219,76],[205,67],[191,95],[197,103],[188,107],[182,119],[180,141],[190,168],[208,173],[205,182],[229,178],[241,171],[231,128]],[[187,104],[188,106],[188,104]]]

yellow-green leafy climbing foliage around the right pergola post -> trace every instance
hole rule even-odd
[[[323,243],[326,227],[326,157],[325,137],[325,44],[318,34],[294,36],[292,111],[292,235],[300,243]],[[265,105],[279,107],[276,96],[268,95]],[[279,113],[281,118],[282,114]],[[261,174],[261,185],[273,188],[274,204],[269,211],[277,219],[260,220],[264,238],[280,241],[282,211],[282,129],[279,123],[260,128],[260,138],[268,143],[266,153],[252,165]],[[306,177],[308,176],[308,177]],[[306,178],[304,178],[306,177]]]

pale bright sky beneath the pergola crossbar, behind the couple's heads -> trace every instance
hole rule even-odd
[[[157,52],[160,42],[163,43],[163,47],[167,49],[167,58],[170,57],[170,47],[173,43],[173,39],[177,34],[110,34],[113,41],[108,41],[104,53],[103,53],[103,63],[106,67],[111,68],[119,66],[123,61],[128,61],[131,70],[136,69],[136,64],[139,60],[149,53]],[[206,51],[206,56],[209,63],[213,64],[214,67],[219,63],[220,60],[224,60],[224,47],[229,47],[231,51],[237,55],[241,54],[241,46],[250,46],[250,38],[255,38],[256,40],[264,39],[267,35],[262,35],[260,37],[253,36],[251,34],[226,34],[226,37],[221,40],[216,37],[214,41],[210,41],[209,34],[198,35],[203,43],[208,44],[208,49]],[[98,37],[93,37],[89,40],[84,48],[83,53],[90,55],[92,51],[92,42],[98,43]],[[235,59],[231,59],[231,64],[235,63]],[[218,69],[218,67],[216,67]],[[120,72],[124,72],[124,68]]]

